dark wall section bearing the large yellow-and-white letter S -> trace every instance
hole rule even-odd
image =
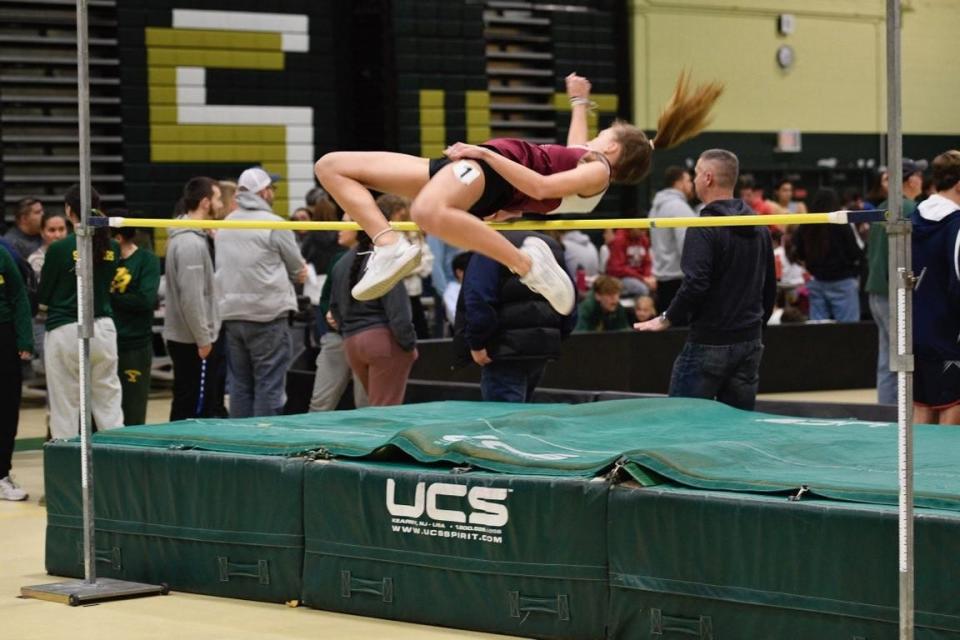
[[[169,215],[195,175],[254,164],[283,176],[275,209],[313,186],[336,117],[333,3],[121,1],[125,189],[135,213]],[[318,126],[319,125],[319,126]],[[296,203],[294,201],[297,201]]]

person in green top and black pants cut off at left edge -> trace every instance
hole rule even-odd
[[[27,492],[10,477],[10,467],[20,419],[20,363],[32,352],[27,289],[13,256],[0,247],[0,500],[27,499]]]

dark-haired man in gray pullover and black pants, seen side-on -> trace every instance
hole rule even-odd
[[[206,220],[222,206],[220,187],[211,178],[192,178],[183,187],[184,218]],[[207,417],[207,381],[216,371],[210,358],[220,333],[213,260],[207,235],[199,229],[173,229],[167,242],[166,307],[163,338],[173,362],[170,420]]]

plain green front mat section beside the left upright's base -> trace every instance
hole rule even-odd
[[[97,575],[175,591],[300,597],[303,460],[97,445]],[[78,442],[44,448],[47,571],[83,577]]]

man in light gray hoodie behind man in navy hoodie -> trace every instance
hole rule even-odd
[[[658,191],[650,209],[651,218],[686,218],[696,214],[690,207],[693,181],[683,167],[670,166],[664,172],[665,189]],[[680,255],[686,229],[650,229],[653,251],[653,276],[657,279],[657,308],[668,309],[673,296],[680,289],[683,271]]]

